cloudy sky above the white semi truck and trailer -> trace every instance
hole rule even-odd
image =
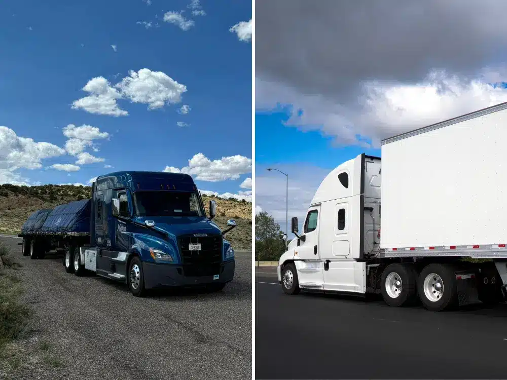
[[[324,177],[403,132],[507,102],[507,3],[256,4],[256,211],[300,226]],[[351,20],[353,20],[351,22]],[[449,27],[451,25],[452,27]]]

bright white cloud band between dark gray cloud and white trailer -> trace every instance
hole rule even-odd
[[[499,77],[485,71],[466,80],[433,70],[415,84],[369,81],[355,102],[359,105],[349,106],[256,79],[256,107],[275,109],[290,104],[287,126],[320,130],[334,136],[338,144],[379,148],[383,138],[507,101],[507,90],[486,82]]]

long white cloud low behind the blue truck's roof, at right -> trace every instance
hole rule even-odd
[[[222,157],[220,160],[209,160],[202,153],[189,160],[189,166],[181,169],[166,166],[164,172],[185,173],[201,181],[218,182],[227,179],[238,179],[241,174],[250,173],[252,160],[244,156]]]

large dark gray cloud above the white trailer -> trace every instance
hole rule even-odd
[[[358,83],[416,83],[431,69],[461,78],[507,47],[507,2],[494,0],[264,0],[256,3],[256,75],[354,99]]]

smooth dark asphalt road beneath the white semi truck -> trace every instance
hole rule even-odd
[[[433,313],[286,295],[256,270],[256,378],[507,378],[507,305]]]

